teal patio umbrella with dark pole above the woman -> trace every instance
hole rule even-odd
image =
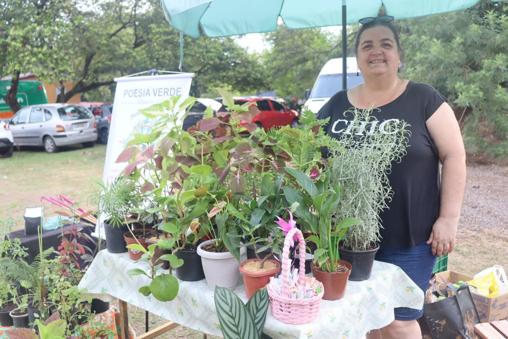
[[[346,24],[375,17],[381,6],[395,19],[463,10],[480,0],[161,0],[168,22],[197,38],[199,26],[210,38],[277,29],[280,17],[290,29],[342,25],[342,87],[346,88]],[[500,1],[500,0],[492,0]]]

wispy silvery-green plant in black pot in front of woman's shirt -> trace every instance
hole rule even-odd
[[[375,129],[378,121],[371,116],[372,109],[350,113],[354,114],[351,131],[348,129],[330,147],[330,182],[341,186],[341,199],[332,210],[332,221],[361,221],[347,230],[338,250],[340,257],[353,266],[349,279],[362,281],[370,278],[379,249],[379,212],[387,207],[393,194],[387,172],[393,161],[404,156],[409,132],[403,120],[392,120],[383,130]]]

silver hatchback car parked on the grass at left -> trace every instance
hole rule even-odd
[[[9,122],[14,144],[44,146],[48,153],[59,146],[83,144],[93,147],[97,125],[93,114],[83,106],[44,104],[20,109]]]

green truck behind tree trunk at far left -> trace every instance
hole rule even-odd
[[[10,118],[14,115],[4,100],[10,86],[10,80],[0,81],[0,118]],[[20,81],[16,99],[21,107],[48,103],[46,90],[40,81]]]

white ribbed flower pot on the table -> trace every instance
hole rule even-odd
[[[213,253],[203,250],[203,246],[212,243],[207,240],[198,246],[198,254],[201,256],[203,271],[205,272],[208,286],[215,290],[215,285],[234,290],[240,279],[240,263],[229,252]],[[241,243],[241,242],[240,242]],[[245,247],[240,248],[240,255],[245,253]]]

